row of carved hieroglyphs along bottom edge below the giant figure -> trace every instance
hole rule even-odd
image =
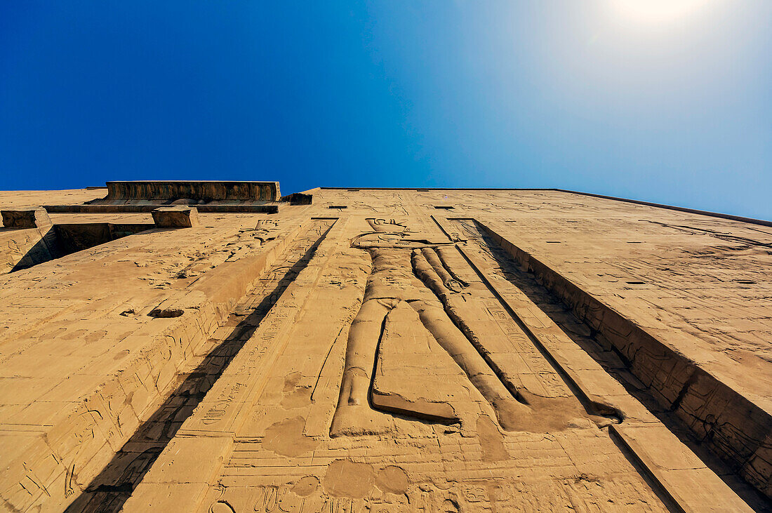
[[[317,478],[309,478],[317,482]],[[302,488],[303,480],[287,484],[256,487],[222,487],[212,490],[208,513],[391,513],[419,511],[444,513],[459,511],[663,511],[652,491],[631,496],[638,481],[624,476],[607,479],[579,474],[572,478],[513,481],[510,479],[471,480],[442,484],[420,483],[403,494],[381,493],[372,489],[365,498],[335,497],[314,486]]]

